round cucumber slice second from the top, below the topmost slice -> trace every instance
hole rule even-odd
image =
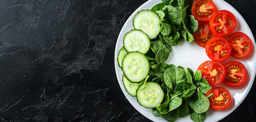
[[[145,54],[150,49],[150,38],[139,29],[134,29],[123,38],[123,45],[127,52],[138,51]]]

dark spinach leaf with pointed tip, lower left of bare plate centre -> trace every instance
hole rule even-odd
[[[166,63],[158,63],[157,66],[153,69],[153,72],[155,73],[156,76],[163,77],[165,70],[168,67],[172,67],[172,66],[174,66],[174,65],[166,64]]]

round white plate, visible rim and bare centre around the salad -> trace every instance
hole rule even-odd
[[[218,86],[224,87],[228,89],[228,91],[231,94],[231,104],[230,106],[222,111],[216,111],[214,109],[209,108],[209,110],[206,112],[206,119],[205,121],[219,121],[222,118],[226,117],[228,114],[230,114],[234,109],[236,109],[245,99],[247,94],[249,93],[249,90],[252,86],[254,77],[255,77],[255,70],[256,70],[256,53],[255,53],[255,40],[253,38],[253,35],[251,33],[251,30],[248,26],[248,24],[245,22],[244,18],[238,13],[236,9],[234,9],[231,5],[226,3],[222,0],[213,0],[218,10],[228,10],[231,13],[234,14],[234,16],[237,19],[237,27],[234,29],[234,32],[243,32],[245,33],[252,41],[253,48],[249,56],[243,59],[238,59],[230,56],[223,64],[230,62],[231,60],[237,60],[244,64],[246,70],[247,70],[247,80],[245,84],[243,84],[241,87],[238,88],[230,88],[226,86],[224,83],[221,83]],[[160,0],[150,0],[144,3],[142,6],[140,6],[130,17],[127,19],[125,24],[123,25],[121,32],[118,36],[117,43],[116,43],[116,49],[115,49],[115,69],[116,69],[116,76],[119,82],[119,85],[122,89],[123,94],[127,98],[127,100],[133,105],[135,109],[137,109],[141,114],[143,114],[145,117],[153,120],[153,121],[166,121],[165,119],[161,117],[156,117],[151,113],[151,109],[144,108],[140,106],[136,100],[136,97],[130,96],[122,83],[122,70],[118,67],[117,63],[117,54],[118,51],[123,46],[123,36],[131,31],[133,28],[133,17],[135,14],[140,10],[145,9],[151,9],[156,4],[161,3]],[[191,68],[194,72],[197,70],[198,66],[205,62],[206,60],[210,60],[206,53],[205,49],[203,47],[198,46],[195,42],[187,43],[183,42],[180,45],[173,46],[173,51],[170,53],[169,58],[167,59],[167,64],[174,64],[175,66],[182,66],[184,68]],[[177,121],[192,121],[189,118],[189,115],[185,117],[179,117]]]

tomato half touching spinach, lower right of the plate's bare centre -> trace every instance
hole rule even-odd
[[[225,78],[226,69],[219,62],[208,60],[202,63],[197,70],[200,70],[202,77],[205,78],[211,86],[219,85]]]

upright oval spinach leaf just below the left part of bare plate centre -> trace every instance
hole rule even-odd
[[[164,83],[172,90],[175,88],[176,83],[176,67],[169,67],[163,74]]]

